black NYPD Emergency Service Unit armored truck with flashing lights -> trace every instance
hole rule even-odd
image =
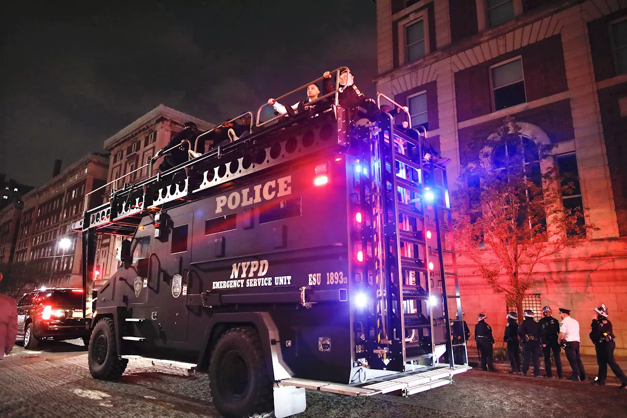
[[[93,377],[137,358],[208,371],[216,408],[240,418],[302,412],[305,389],[411,395],[468,370],[465,341],[451,343],[446,161],[391,114],[344,109],[341,90],[147,180],[116,179],[71,226],[85,295],[97,236],[124,237],[84,306]]]

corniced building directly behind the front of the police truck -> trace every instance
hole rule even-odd
[[[214,124],[160,104],[108,138],[104,147],[111,157],[105,198],[108,198],[112,188],[120,188],[124,186],[124,183],[133,183],[146,178],[149,175],[149,167],[136,171],[125,178],[122,176],[148,164],[150,158],[166,146],[172,136],[181,131],[185,122],[194,122],[201,131],[208,131],[214,127]],[[153,173],[157,171],[160,161],[157,161],[152,167]],[[120,178],[122,179],[113,183]],[[98,204],[100,203],[103,203],[102,199],[98,201]],[[104,283],[105,279],[117,270],[116,258],[119,257],[120,245],[122,244],[121,237],[104,235],[99,239],[95,265],[100,277],[96,286]]]

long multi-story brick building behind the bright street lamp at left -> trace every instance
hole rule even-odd
[[[57,161],[53,178],[23,196],[13,261],[33,262],[38,286],[82,286],[80,236],[68,225],[82,217],[85,194],[105,184],[108,156],[88,154],[60,168]]]

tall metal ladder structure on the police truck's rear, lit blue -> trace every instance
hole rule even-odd
[[[379,128],[371,163],[377,355],[389,353],[388,370],[399,372],[435,367],[445,354],[451,369],[467,365],[466,355],[455,361],[453,347],[465,352],[465,341],[453,344],[448,318],[448,299],[456,299],[460,318],[461,299],[447,161],[435,158],[424,130],[395,131],[391,116]]]

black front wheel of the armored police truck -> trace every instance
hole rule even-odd
[[[92,377],[102,380],[117,380],[124,373],[129,360],[121,358],[115,344],[113,319],[103,318],[93,327],[88,343],[89,372]]]

